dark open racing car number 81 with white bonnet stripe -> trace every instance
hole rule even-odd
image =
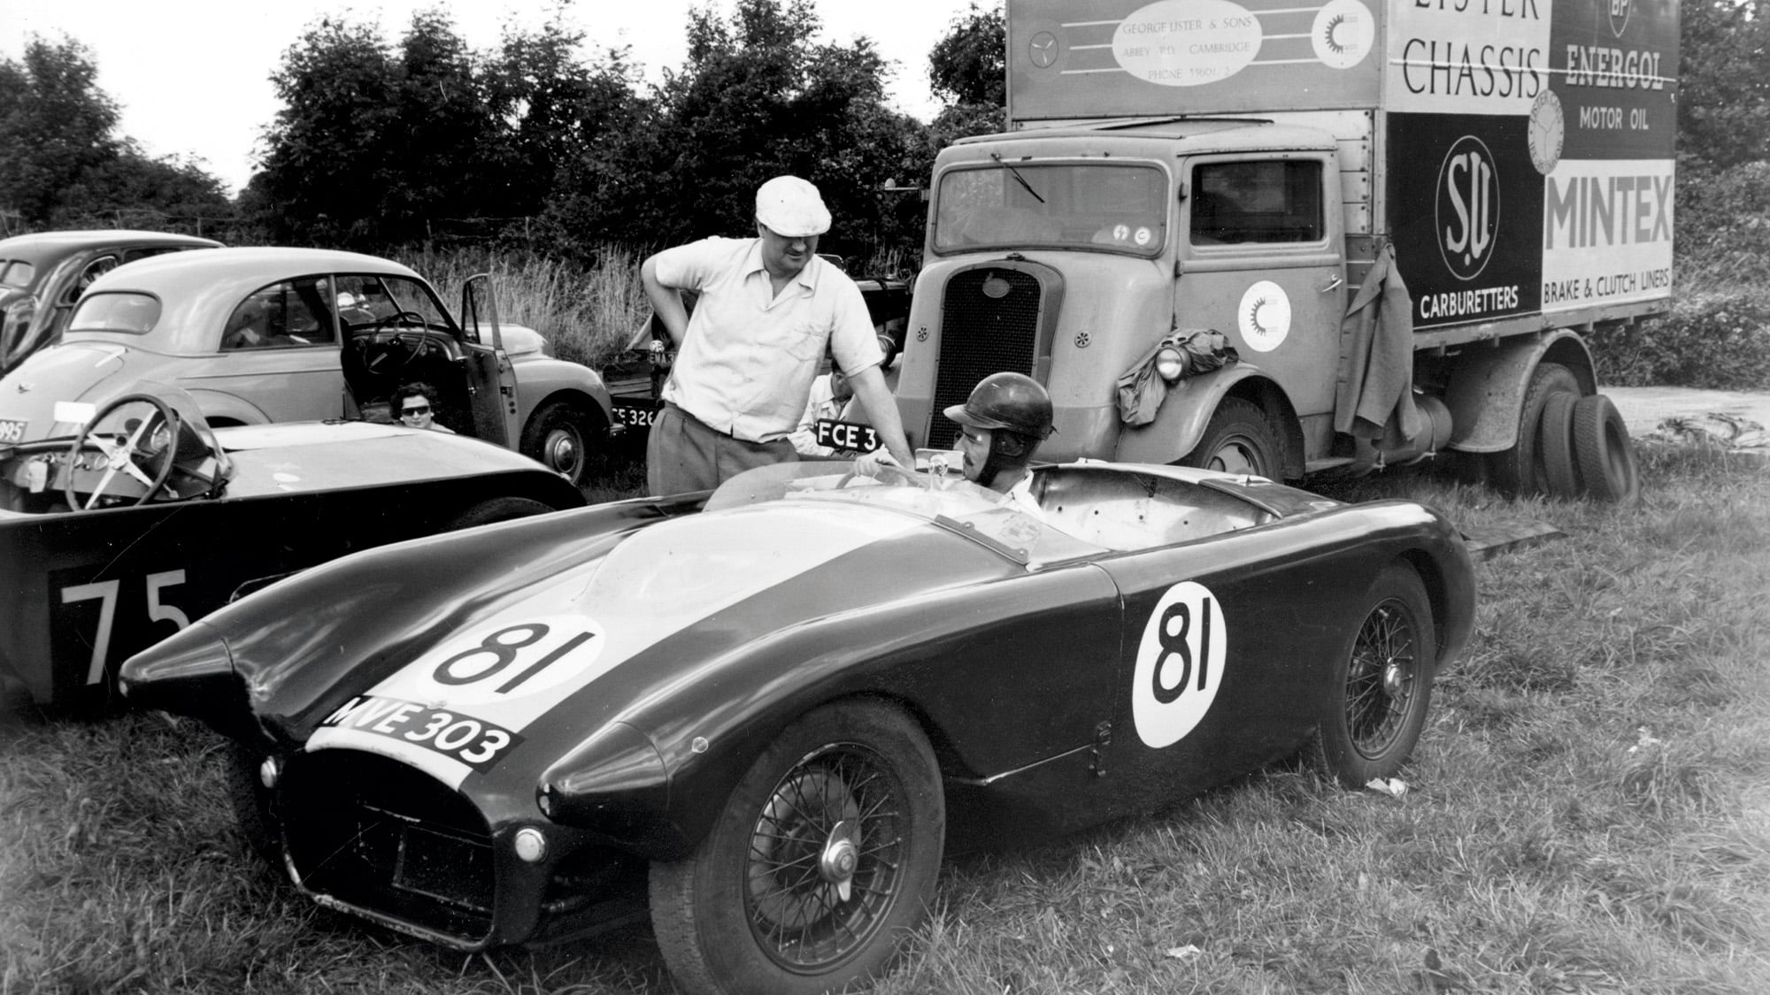
[[[476,951],[643,914],[689,991],[876,974],[942,850],[1310,751],[1393,775],[1474,611],[1435,512],[1165,466],[786,464],[350,556],[124,664],[315,901]],[[646,892],[650,885],[650,892]]]

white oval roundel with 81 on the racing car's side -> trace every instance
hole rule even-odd
[[[1174,745],[1198,726],[1223,683],[1227,648],[1223,605],[1209,588],[1186,581],[1161,595],[1131,675],[1131,721],[1143,745]]]

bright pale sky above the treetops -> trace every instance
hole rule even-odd
[[[989,9],[1000,0],[977,0]],[[122,108],[122,135],[150,156],[195,156],[230,191],[251,177],[260,133],[278,110],[269,76],[283,51],[322,16],[379,23],[398,41],[419,9],[444,9],[478,50],[497,44],[506,23],[540,28],[558,0],[0,0],[0,55],[18,60],[32,34],[85,44],[99,89]],[[648,81],[680,69],[690,7],[729,16],[731,0],[572,0],[570,23],[586,35],[586,57],[632,46]],[[823,39],[871,37],[896,62],[897,110],[933,117],[927,53],[972,0],[816,0]]]

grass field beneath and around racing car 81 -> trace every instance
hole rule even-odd
[[[1405,795],[1276,767],[952,859],[878,991],[1770,991],[1770,469],[1644,446],[1643,474],[1639,508],[1338,490],[1566,533],[1480,563]],[[218,742],[4,719],[0,993],[674,991],[644,926],[462,956],[310,905],[250,857]]]

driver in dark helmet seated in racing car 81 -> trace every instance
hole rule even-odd
[[[1027,374],[991,374],[965,404],[945,411],[959,423],[956,444],[965,460],[965,478],[1002,494],[1005,505],[1044,517],[1032,494],[1032,455],[1051,434],[1051,395]],[[855,460],[855,473],[878,476],[881,467],[901,464],[887,450]]]

